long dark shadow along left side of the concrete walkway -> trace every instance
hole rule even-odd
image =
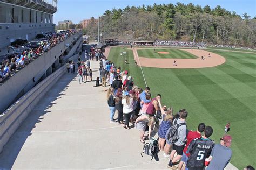
[[[55,101],[61,98],[60,96],[65,95],[63,92],[67,90],[67,87],[75,80],[76,76],[77,74],[64,74],[55,86],[42,98],[41,103],[38,103],[37,107],[33,108],[29,116],[4,146],[3,152],[0,154],[0,169],[12,169],[26,139],[32,135],[31,131],[36,127],[37,123],[43,121],[44,118],[41,116],[50,114],[51,111],[47,109],[57,104]]]

